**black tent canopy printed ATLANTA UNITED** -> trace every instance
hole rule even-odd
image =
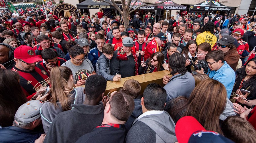
[[[105,0],[105,1],[112,3],[109,0]],[[99,9],[99,8],[115,9],[114,6],[98,0],[85,0],[82,3],[77,4],[77,9]]]

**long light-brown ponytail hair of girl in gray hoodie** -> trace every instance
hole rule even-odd
[[[61,108],[63,111],[70,110],[70,99],[69,92],[73,89],[67,88],[67,83],[69,81],[70,75],[72,75],[72,71],[70,68],[65,66],[53,67],[50,73],[51,79],[51,99],[50,103],[53,103],[55,107],[58,107],[57,101],[59,101]]]

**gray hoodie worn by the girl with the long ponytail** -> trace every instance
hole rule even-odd
[[[71,105],[82,104],[85,101],[84,87],[74,88],[75,92],[69,96]],[[63,112],[61,105],[57,102],[57,108],[54,107],[53,103],[46,102],[40,108],[41,119],[43,123],[44,132],[47,134],[49,127],[53,119],[61,112]],[[73,109],[73,107],[72,107]],[[71,110],[72,110],[71,109]]]

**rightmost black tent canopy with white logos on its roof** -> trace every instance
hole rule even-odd
[[[231,7],[222,5],[218,1],[209,0],[209,1],[204,1],[202,3],[196,4],[194,6],[190,6],[189,10],[191,10],[191,11],[203,10],[203,11],[226,11],[226,12],[229,12],[231,10]]]

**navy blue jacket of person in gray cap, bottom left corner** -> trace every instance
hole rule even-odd
[[[42,135],[43,131],[32,131],[20,127],[9,126],[0,129],[0,142],[34,143]]]

